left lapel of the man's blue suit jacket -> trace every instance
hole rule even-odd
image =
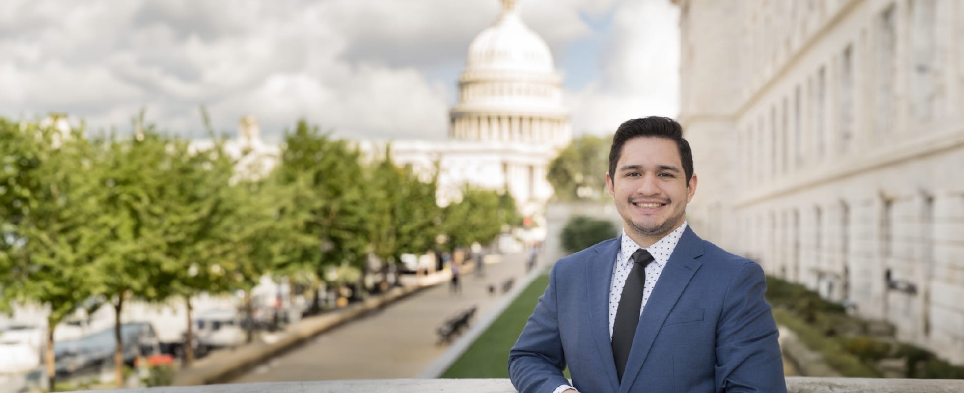
[[[612,281],[612,268],[616,263],[616,252],[622,238],[598,246],[586,263],[586,284],[589,294],[589,328],[596,349],[603,361],[603,369],[612,383],[612,390],[619,389],[616,377],[616,361],[612,358],[612,345],[609,341],[609,286]]]

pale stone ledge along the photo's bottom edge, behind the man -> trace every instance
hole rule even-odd
[[[790,377],[790,393],[960,393],[964,380],[869,380]],[[323,380],[153,387],[100,392],[141,393],[515,393],[509,380]]]

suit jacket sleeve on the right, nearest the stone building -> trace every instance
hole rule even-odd
[[[779,333],[765,292],[763,268],[753,262],[743,264],[727,288],[716,328],[719,391],[787,391]]]

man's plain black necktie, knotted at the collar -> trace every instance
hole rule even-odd
[[[639,324],[639,310],[643,304],[643,283],[646,282],[646,265],[653,262],[653,255],[645,249],[632,253],[632,270],[626,277],[623,295],[616,308],[616,322],[612,325],[612,356],[616,360],[616,375],[623,380],[623,371],[629,359],[632,337]]]

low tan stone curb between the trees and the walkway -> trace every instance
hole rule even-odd
[[[283,354],[303,344],[326,330],[362,317],[369,312],[385,307],[390,302],[401,300],[421,289],[431,287],[435,283],[430,281],[415,286],[392,288],[387,293],[377,297],[349,304],[323,315],[305,318],[285,330],[278,341],[270,344],[256,341],[233,350],[211,354],[196,361],[191,367],[179,370],[174,378],[174,385],[188,386],[226,382],[273,356]]]

